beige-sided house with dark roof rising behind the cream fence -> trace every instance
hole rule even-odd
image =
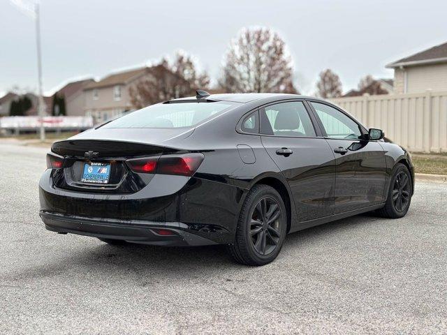
[[[447,91],[447,43],[386,66],[394,69],[395,94]]]

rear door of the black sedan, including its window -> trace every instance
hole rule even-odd
[[[260,110],[261,141],[286,177],[300,222],[332,214],[334,154],[302,101]]]

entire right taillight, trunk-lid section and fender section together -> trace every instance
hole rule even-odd
[[[126,161],[133,172],[192,176],[203,161],[203,154],[166,155]]]

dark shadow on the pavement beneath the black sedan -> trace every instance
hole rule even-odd
[[[287,258],[296,258],[302,253],[302,248],[311,244],[321,244],[321,239],[330,237],[337,230],[356,229],[359,225],[379,220],[374,216],[353,216],[343,220],[318,225],[288,234],[279,254],[277,262],[287,262]],[[71,244],[69,253],[62,253],[59,248],[54,257],[49,255],[45,265],[29,264],[22,271],[15,271],[12,280],[24,280],[25,278],[47,278],[51,276],[85,276],[86,273],[101,273],[108,278],[127,276],[131,274],[135,280],[145,285],[146,281],[163,281],[170,276],[182,276],[185,280],[200,278],[208,274],[214,278],[228,273],[228,270],[252,271],[253,267],[239,265],[230,259],[223,245],[195,246],[195,247],[163,247],[147,246],[142,244],[125,244],[112,246],[97,239],[89,237],[75,237],[66,235],[64,238]],[[78,239],[76,241],[75,239]],[[32,252],[32,251],[30,251]],[[30,266],[31,265],[31,266]],[[275,262],[265,267],[274,267]],[[264,267],[264,268],[265,268]],[[142,281],[142,278],[146,278]]]

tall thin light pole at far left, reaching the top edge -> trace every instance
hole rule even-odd
[[[41,119],[41,141],[45,140],[45,126],[43,125],[43,117],[45,117],[45,102],[43,101],[42,88],[42,54],[41,54],[41,13],[38,0],[36,2],[28,0],[10,0],[13,5],[17,6],[22,13],[28,15],[36,22],[36,47],[37,47],[37,74],[38,74],[38,116]]]

